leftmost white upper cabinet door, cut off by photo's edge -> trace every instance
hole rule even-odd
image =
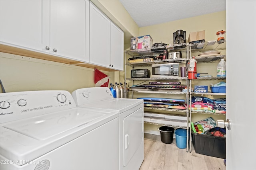
[[[48,52],[49,34],[50,0],[0,0],[0,43]]]

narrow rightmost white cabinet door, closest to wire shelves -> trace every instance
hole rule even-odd
[[[117,70],[124,70],[124,32],[114,23],[111,23],[110,33],[110,64]]]

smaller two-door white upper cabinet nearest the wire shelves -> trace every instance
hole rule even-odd
[[[124,70],[124,32],[90,3],[89,63]]]

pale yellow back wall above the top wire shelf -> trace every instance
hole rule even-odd
[[[149,34],[154,43],[173,44],[173,33],[178,29],[186,31],[186,40],[190,32],[202,30],[206,41],[217,40],[216,32],[226,30],[226,11],[141,27],[140,36]]]

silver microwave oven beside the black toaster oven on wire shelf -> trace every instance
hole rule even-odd
[[[152,64],[152,78],[179,76],[179,63]]]

